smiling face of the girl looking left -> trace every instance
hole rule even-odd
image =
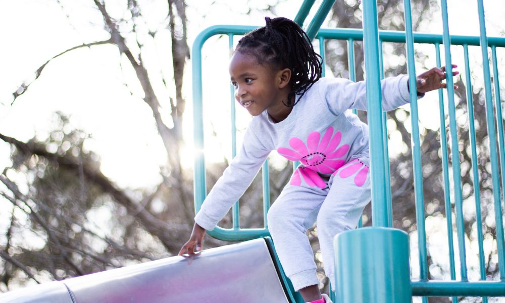
[[[252,116],[263,111],[279,122],[291,112],[287,103],[289,93],[289,69],[273,70],[261,65],[255,57],[235,52],[230,62],[231,83],[235,87],[235,99]]]

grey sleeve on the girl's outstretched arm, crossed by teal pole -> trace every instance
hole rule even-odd
[[[386,78],[381,81],[382,109],[394,110],[409,103],[410,95],[407,75]],[[325,78],[320,86],[321,99],[334,115],[348,109],[367,110],[366,82],[352,82],[342,78]]]

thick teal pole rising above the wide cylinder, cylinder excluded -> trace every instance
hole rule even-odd
[[[370,130],[370,173],[372,179],[373,226],[386,227],[387,202],[384,181],[384,142],[382,141],[382,92],[377,58],[379,56],[379,31],[376,0],[363,2],[363,31],[365,68],[367,73],[368,126]]]

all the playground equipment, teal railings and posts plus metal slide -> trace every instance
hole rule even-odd
[[[501,113],[500,87],[497,67],[496,48],[505,47],[505,38],[486,36],[484,9],[482,0],[478,0],[480,36],[450,36],[447,21],[447,4],[441,0],[443,35],[421,34],[412,32],[410,1],[405,0],[405,32],[379,31],[377,25],[376,0],[363,1],[364,30],[356,29],[320,29],[326,15],[335,0],[324,0],[312,22],[307,27],[309,37],[319,40],[320,54],[325,58],[324,41],[340,39],[347,41],[348,54],[354,54],[355,41],[364,41],[365,66],[367,75],[368,124],[370,126],[371,174],[372,174],[372,212],[373,227],[347,231],[335,238],[336,297],[335,302],[410,302],[412,296],[505,296],[505,243],[503,239],[502,200],[500,175],[505,187],[505,146],[503,144],[503,123]],[[303,24],[315,0],[305,0],[295,17],[298,24]],[[195,39],[192,49],[193,110],[195,148],[200,152],[195,156],[195,211],[198,211],[206,196],[206,168],[204,150],[203,91],[202,91],[202,56],[201,48],[214,35],[227,35],[229,47],[233,47],[233,37],[243,35],[254,29],[251,26],[218,25],[201,32]],[[382,77],[383,42],[400,42],[407,45],[409,83],[411,87],[411,120],[413,140],[414,183],[416,191],[416,218],[418,229],[418,254],[420,279],[411,281],[409,266],[409,239],[405,232],[392,229],[391,192],[389,184],[389,161],[385,114],[381,110],[380,79]],[[439,92],[440,133],[443,158],[443,177],[449,242],[449,266],[451,281],[428,280],[427,248],[425,232],[425,213],[422,184],[421,150],[419,141],[416,71],[414,68],[414,42],[432,44],[435,49],[437,64],[440,66],[440,45],[443,44],[445,68],[451,70],[451,45],[460,45],[465,51],[465,71],[468,95],[469,129],[472,148],[472,165],[476,165],[476,142],[472,104],[472,87],[468,47],[480,45],[485,82],[485,107],[487,130],[492,169],[492,188],[496,225],[496,244],[498,247],[499,281],[485,281],[483,256],[482,218],[477,212],[477,231],[479,244],[479,266],[481,281],[468,281],[466,250],[464,241],[463,199],[461,172],[458,149],[452,149],[452,182],[455,204],[457,237],[459,243],[460,280],[456,281],[455,256],[452,244],[452,222],[450,215],[451,197],[449,196],[449,169],[447,163],[447,138],[445,134],[445,113],[442,93]],[[488,49],[491,49],[493,65],[494,101],[496,123],[493,113],[491,76]],[[324,65],[323,65],[324,66]],[[349,56],[348,70],[351,80],[355,80],[354,57]],[[448,117],[452,146],[458,146],[455,114],[453,80],[447,73]],[[232,154],[235,156],[235,101],[231,97]],[[475,105],[478,106],[478,105]],[[495,135],[497,133],[497,137]],[[498,141],[498,147],[496,146]],[[498,154],[499,151],[499,154]],[[498,167],[498,155],[500,167]],[[478,180],[475,175],[474,180]],[[73,278],[60,282],[42,284],[29,289],[22,289],[0,296],[0,302],[303,302],[295,293],[280,266],[272,241],[268,238],[266,213],[270,207],[268,161],[262,168],[264,183],[264,227],[256,229],[240,228],[239,204],[233,206],[233,227],[217,227],[210,235],[233,241],[246,241],[240,244],[223,246],[201,252],[197,256],[183,258],[172,257],[164,260],[129,266],[122,269]],[[384,177],[386,176],[386,177]],[[478,183],[478,182],[476,182]],[[475,188],[476,209],[480,210],[478,187]],[[259,239],[266,237],[264,239]],[[185,280],[201,281],[199,289],[186,289]],[[226,296],[223,294],[226,293]],[[230,295],[230,293],[232,295]],[[234,296],[236,294],[236,296]]]

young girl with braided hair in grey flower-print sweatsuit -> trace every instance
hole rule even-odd
[[[266,26],[240,39],[229,67],[235,98],[254,118],[179,255],[202,248],[205,231],[226,215],[275,149],[300,162],[268,212],[275,249],[306,301],[330,302],[319,291],[306,231],[317,224],[325,273],[334,286],[333,237],[356,228],[371,199],[368,127],[347,111],[367,109],[366,85],[320,79],[321,57],[307,34],[286,18],[265,20]],[[443,68],[421,74],[418,94],[445,87],[443,79]],[[385,111],[409,102],[408,76],[387,78],[381,86]]]

